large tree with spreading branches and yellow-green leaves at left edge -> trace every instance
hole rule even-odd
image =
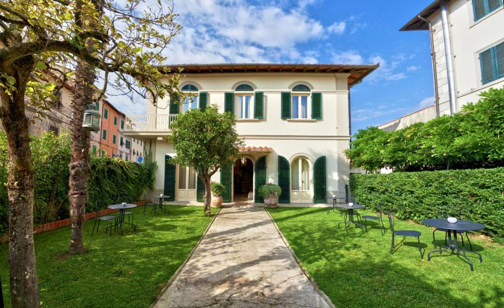
[[[97,4],[103,8],[103,15],[97,10]],[[33,248],[33,170],[25,103],[49,104],[56,84],[66,82],[68,71],[75,68],[77,59],[103,72],[100,76],[105,85],[123,90],[131,98],[134,94],[149,96],[155,104],[167,94],[176,94],[177,74],[167,78],[166,72],[159,70],[159,64],[165,60],[162,51],[179,30],[175,16],[171,10],[165,13],[167,6],[160,2],[153,9],[141,10],[141,7],[144,7],[142,0],[118,4],[106,0],[4,0],[0,3],[0,119],[9,145],[12,307],[40,306]],[[92,28],[83,27],[82,22]],[[41,76],[46,80],[41,82]],[[84,82],[89,84],[91,78]],[[95,98],[101,97],[102,93]],[[84,203],[80,198],[76,215],[80,221]],[[81,228],[82,224],[73,226]],[[76,235],[72,240],[82,243],[82,230],[72,234]]]

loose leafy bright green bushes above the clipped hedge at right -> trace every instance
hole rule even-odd
[[[493,168],[504,166],[504,88],[480,94],[477,104],[394,132],[359,130],[346,156],[375,171]]]

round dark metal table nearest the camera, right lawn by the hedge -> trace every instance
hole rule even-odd
[[[459,219],[456,223],[451,223],[447,219],[444,219],[444,218],[424,219],[424,220],[422,220],[422,223],[427,226],[430,226],[430,227],[446,229],[447,233],[448,233],[448,246],[440,245],[439,249],[430,251],[427,254],[428,261],[430,261],[430,254],[432,252],[442,253],[443,251],[448,251],[448,250],[454,249],[458,255],[462,256],[462,258],[464,258],[465,260],[467,260],[467,262],[469,262],[469,265],[471,266],[471,271],[474,271],[474,267],[473,267],[472,261],[469,258],[467,258],[466,252],[471,252],[471,253],[477,254],[479,256],[479,262],[480,263],[483,262],[483,258],[481,257],[481,254],[479,254],[476,251],[466,250],[466,248],[464,246],[462,246],[462,253],[460,253],[459,244],[457,242],[457,231],[483,230],[483,229],[485,229],[484,225],[477,223],[477,222],[467,221],[467,220],[462,220],[462,219]],[[452,243],[452,234],[453,234],[453,243]]]

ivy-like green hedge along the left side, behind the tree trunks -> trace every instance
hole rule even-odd
[[[69,218],[68,190],[71,156],[70,136],[44,133],[42,137],[30,137],[30,149],[34,170],[35,225]],[[95,210],[100,199],[104,204],[117,201],[118,196],[139,198],[145,189],[155,183],[157,164],[147,155],[145,164],[125,162],[119,158],[96,157],[91,159],[91,180],[87,212]],[[0,131],[0,234],[8,230],[9,199],[7,194],[8,158],[5,131]]]

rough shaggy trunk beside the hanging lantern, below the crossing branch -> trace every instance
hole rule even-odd
[[[95,70],[82,60],[77,61],[75,73],[74,99],[72,101],[72,158],[69,171],[69,201],[70,218],[72,219],[72,235],[70,237],[70,254],[84,252],[82,237],[86,202],[89,199],[88,181],[91,172],[89,160],[90,132],[82,127],[83,113],[88,104],[93,102],[94,90],[91,87],[95,81]]]

